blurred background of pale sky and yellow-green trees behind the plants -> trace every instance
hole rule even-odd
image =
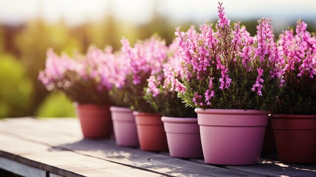
[[[272,18],[275,35],[302,18],[316,31],[316,3],[302,1],[223,1],[231,22],[255,34],[257,20]],[[120,49],[156,33],[171,43],[175,27],[187,30],[216,22],[217,1],[206,0],[10,0],[0,1],[0,118],[74,116],[71,101],[48,93],[37,80],[46,49],[72,54],[90,44]]]

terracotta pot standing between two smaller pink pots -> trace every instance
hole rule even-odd
[[[160,114],[134,111],[141,150],[168,151],[167,137]]]

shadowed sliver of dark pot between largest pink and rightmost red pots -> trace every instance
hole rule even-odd
[[[261,154],[272,154],[276,152],[277,145],[274,138],[274,133],[272,129],[271,116],[268,117],[268,125],[266,127],[264,145],[262,146]]]

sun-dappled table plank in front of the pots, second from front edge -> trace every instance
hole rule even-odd
[[[47,129],[46,127],[49,126],[49,124],[42,120],[39,120],[36,126],[29,124],[27,127],[23,127],[19,122],[15,122],[15,124],[13,124],[13,122],[15,121],[11,121],[10,124],[7,124],[8,122],[2,123],[3,127],[0,127],[0,131],[14,134],[28,141],[41,142],[49,146],[71,150],[79,154],[113,161],[133,168],[173,176],[223,176],[223,174],[231,176],[255,176],[247,172],[224,169],[206,164],[201,165],[166,155],[140,151],[139,149],[119,147],[111,140],[82,139],[80,136],[66,134],[65,131]],[[14,131],[11,127],[14,127]],[[79,133],[81,134],[81,132]],[[56,140],[46,138],[51,135],[54,135]]]

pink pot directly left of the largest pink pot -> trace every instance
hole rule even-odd
[[[202,158],[200,129],[197,118],[162,117],[170,156]]]

